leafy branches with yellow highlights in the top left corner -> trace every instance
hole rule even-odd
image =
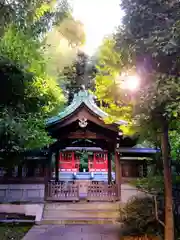
[[[15,24],[23,31],[29,31],[35,37],[42,37],[51,27],[70,15],[66,0],[3,0],[1,9],[1,33],[8,24]]]

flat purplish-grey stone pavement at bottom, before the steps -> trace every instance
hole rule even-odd
[[[117,225],[36,225],[22,240],[119,240]]]

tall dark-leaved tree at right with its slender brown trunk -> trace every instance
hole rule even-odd
[[[149,129],[152,126],[151,129],[159,136],[166,199],[165,239],[174,239],[168,133],[173,130],[172,123],[179,116],[179,2],[128,0],[122,1],[121,7],[125,17],[123,26],[115,35],[116,52],[112,53],[116,56],[118,51],[121,59],[117,73],[136,70],[142,79],[140,89],[133,93],[133,97],[132,93],[126,90],[129,97],[124,101],[123,107],[131,106],[133,123]],[[103,74],[104,79],[115,79],[114,75],[106,75]],[[101,84],[98,90],[100,86]],[[119,80],[119,88],[121,86],[122,81]],[[122,102],[122,90],[119,97],[113,91],[109,93],[112,98],[115,99],[116,95]],[[120,106],[117,100],[114,100],[114,103]],[[108,106],[110,107],[111,103]],[[113,106],[113,109],[115,108]],[[121,115],[124,113],[126,114],[122,110]]]

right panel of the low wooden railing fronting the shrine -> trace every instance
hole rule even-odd
[[[117,201],[118,187],[116,184],[90,183],[87,190],[88,201]]]

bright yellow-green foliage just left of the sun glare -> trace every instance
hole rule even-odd
[[[114,50],[116,42],[113,37],[104,39],[97,54],[97,73],[95,77],[95,95],[100,107],[109,113],[106,122],[124,120],[128,125],[120,126],[124,134],[134,134],[132,122],[132,104],[127,92],[121,91],[119,75],[123,62],[121,54]],[[128,98],[129,99],[129,98]]]

